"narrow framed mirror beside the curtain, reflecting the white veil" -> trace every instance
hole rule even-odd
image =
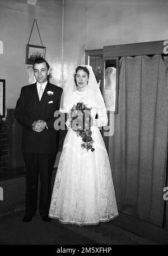
[[[118,114],[119,57],[104,59],[104,101],[107,110]]]

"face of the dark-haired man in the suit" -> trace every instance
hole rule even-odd
[[[45,62],[34,64],[34,76],[40,84],[43,84],[46,82],[48,75],[49,75],[49,70],[47,69]]]

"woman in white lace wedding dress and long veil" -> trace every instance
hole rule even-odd
[[[72,126],[72,109],[82,103],[90,110],[93,120],[89,133],[92,140],[87,140],[87,136],[85,140]],[[78,226],[111,221],[118,216],[118,208],[109,157],[98,128],[108,124],[108,117],[91,66],[78,66],[75,73],[69,75],[60,111],[70,115],[49,217]],[[95,119],[96,114],[98,119]],[[86,131],[83,132],[86,135]]]

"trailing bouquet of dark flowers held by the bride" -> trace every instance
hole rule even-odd
[[[87,107],[83,102],[78,102],[77,105],[73,105],[71,109],[71,127],[73,131],[77,133],[78,136],[82,137],[83,143],[81,147],[83,149],[91,150],[92,152],[95,150],[93,148],[94,140],[91,137],[92,131],[91,126],[93,123],[91,117],[91,109],[92,107]]]

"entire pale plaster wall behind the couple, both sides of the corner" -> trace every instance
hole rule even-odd
[[[167,0],[27,2],[0,0],[0,79],[6,79],[7,108],[15,107],[20,88],[29,81],[25,55],[34,19],[52,66],[50,80],[58,85],[65,82],[69,70],[85,63],[85,50],[168,38]],[[36,26],[30,43],[41,45]]]

